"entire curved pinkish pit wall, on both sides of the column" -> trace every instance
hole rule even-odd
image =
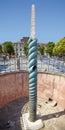
[[[65,76],[39,72],[37,96],[52,98],[65,109]],[[0,108],[20,97],[28,97],[28,73],[17,72],[0,75]]]

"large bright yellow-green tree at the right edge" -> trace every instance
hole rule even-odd
[[[65,37],[60,39],[54,49],[53,49],[53,54],[58,55],[58,56],[65,56]]]

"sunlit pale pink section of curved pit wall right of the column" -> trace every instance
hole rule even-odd
[[[38,97],[53,99],[65,109],[65,76],[53,73],[38,74]]]

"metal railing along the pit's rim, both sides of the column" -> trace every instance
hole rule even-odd
[[[56,58],[37,58],[38,71],[57,72],[65,74],[65,61]],[[0,73],[13,71],[28,71],[28,58],[23,56],[15,59],[0,59]]]

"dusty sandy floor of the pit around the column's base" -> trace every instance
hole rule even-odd
[[[65,111],[51,100],[38,99],[37,111],[44,123],[40,130],[65,130]],[[24,130],[22,114],[28,112],[28,98],[17,99],[0,109],[0,130]]]

